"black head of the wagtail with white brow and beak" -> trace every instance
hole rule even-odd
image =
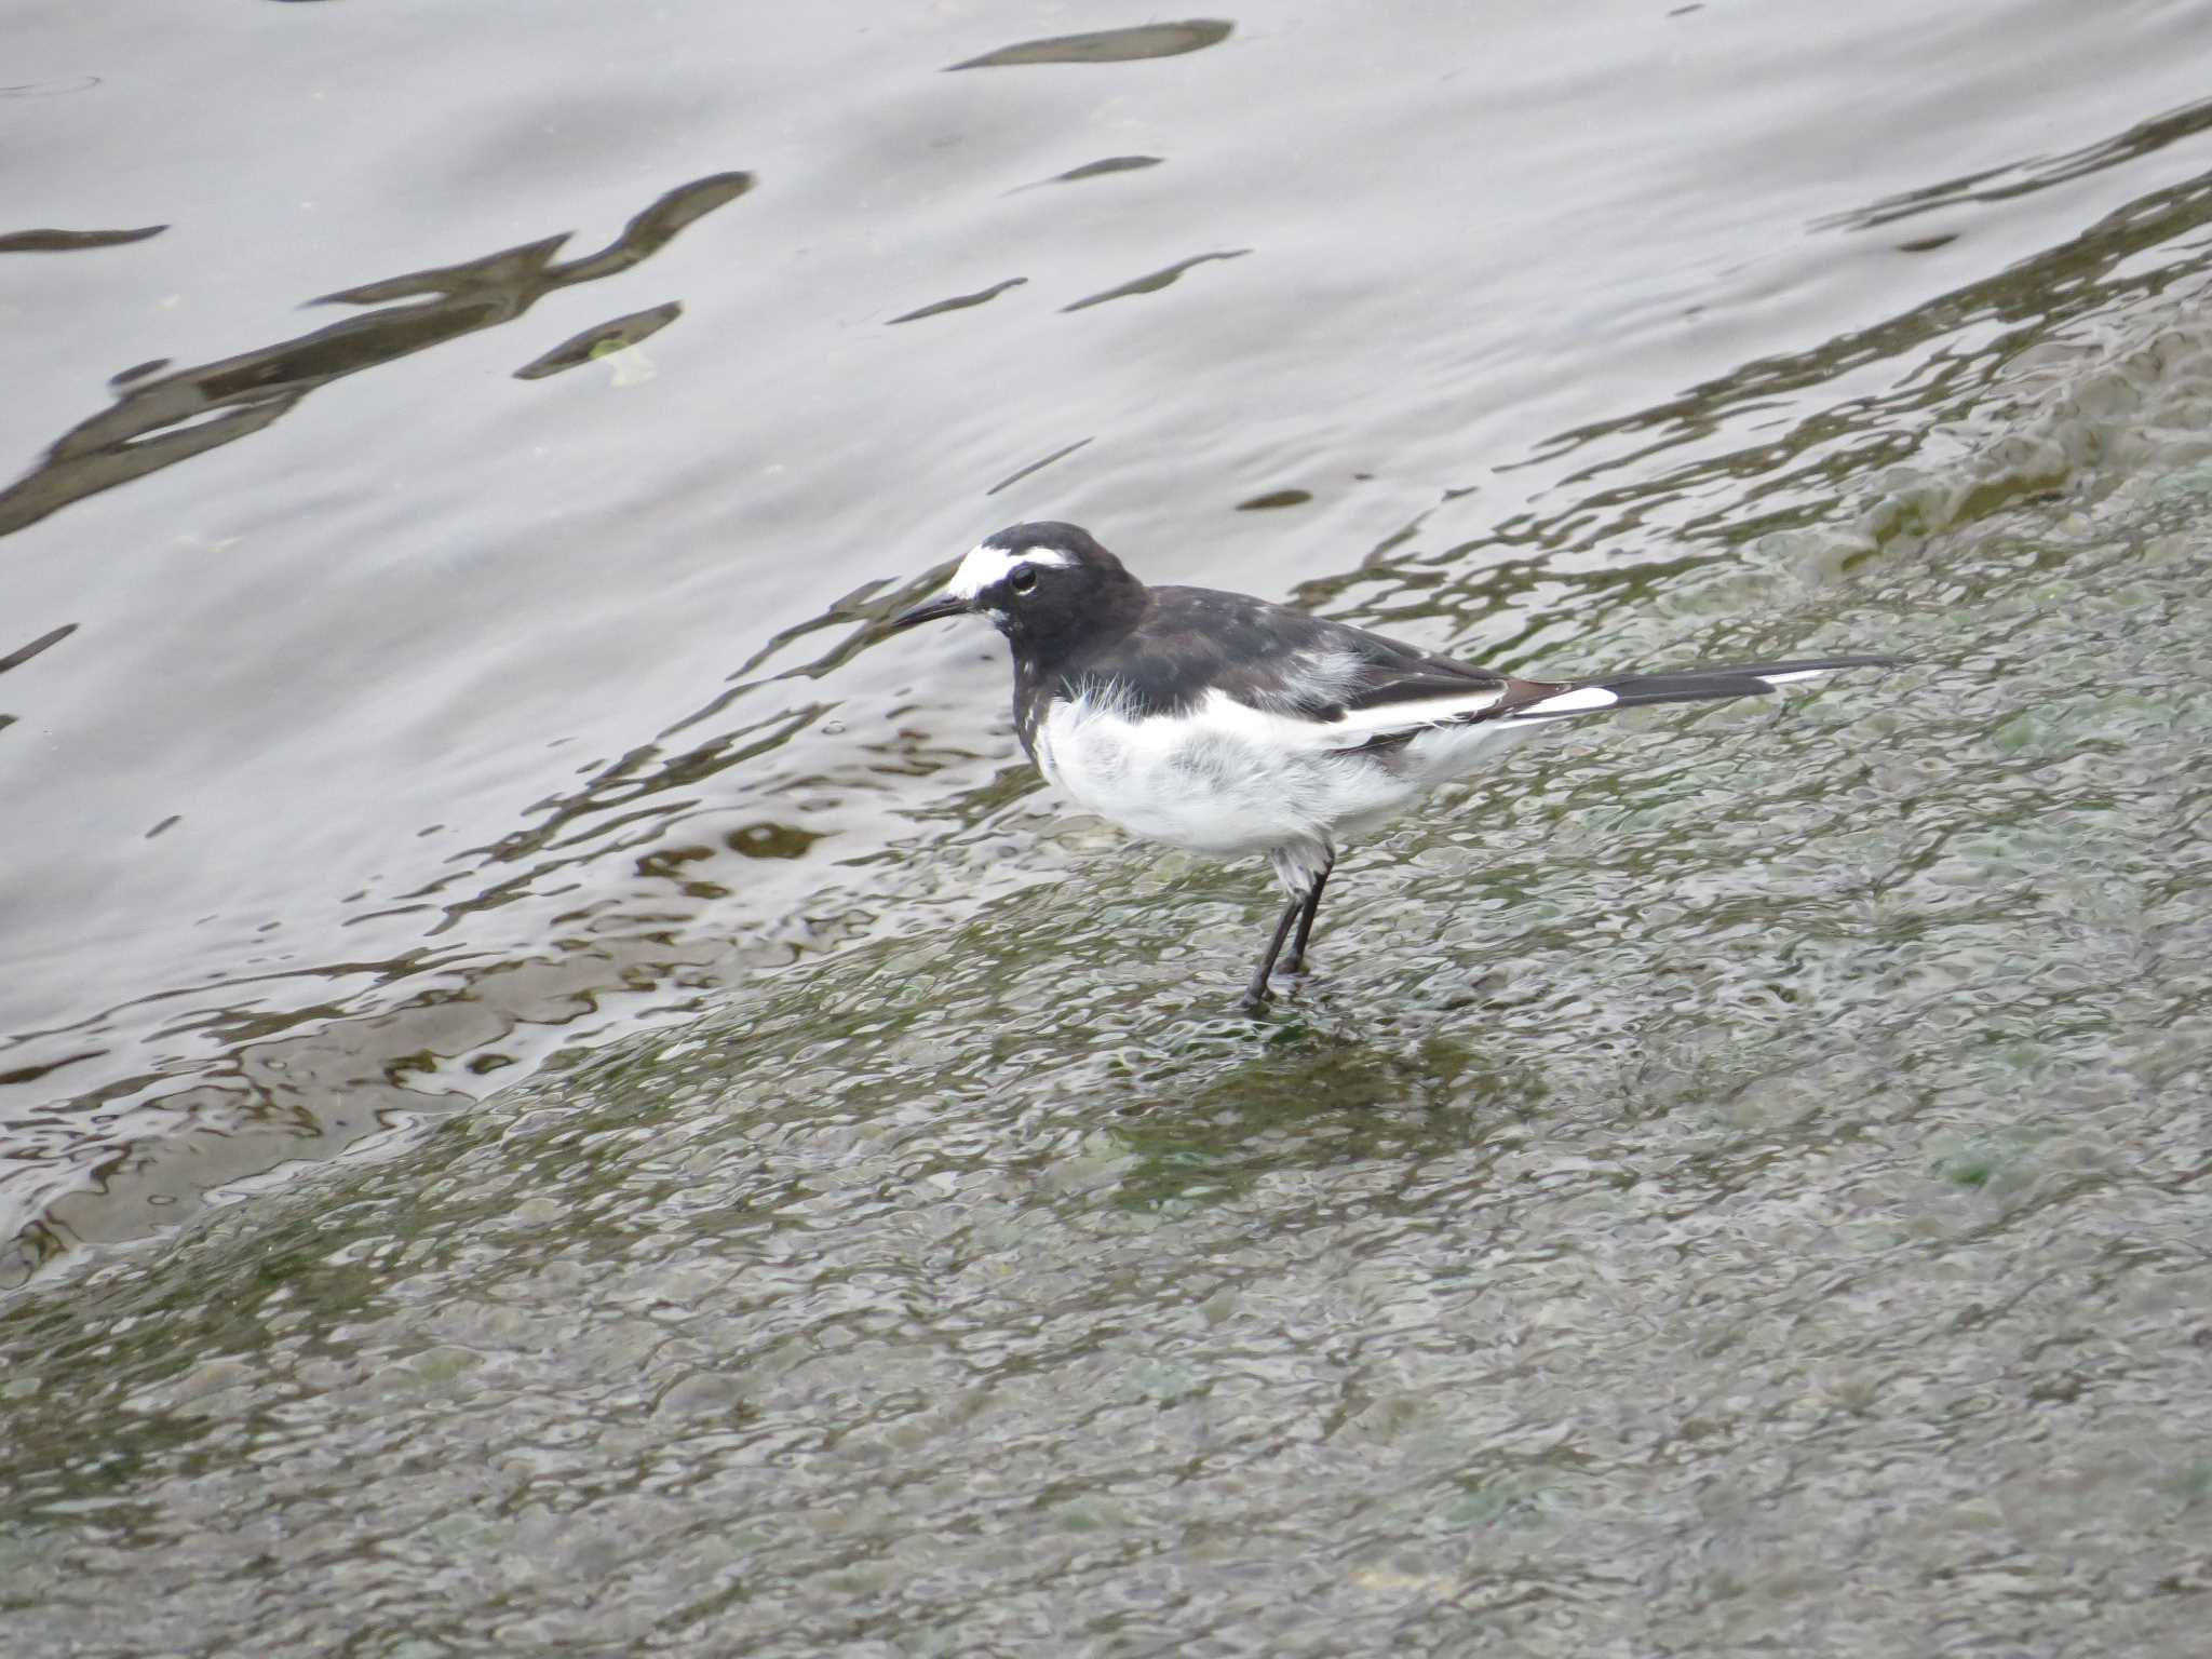
[[[989,617],[1018,653],[1055,657],[1144,615],[1144,582],[1075,524],[1009,524],[960,560],[945,597],[891,622]]]

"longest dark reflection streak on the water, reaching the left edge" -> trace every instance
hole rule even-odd
[[[637,212],[606,248],[566,263],[553,261],[568,241],[560,234],[325,294],[323,303],[414,303],[131,385],[111,409],[62,434],[38,467],[0,489],[0,535],[261,431],[310,392],[347,374],[509,323],[555,290],[624,272],[750,188],[750,173],[717,173],[677,186]]]

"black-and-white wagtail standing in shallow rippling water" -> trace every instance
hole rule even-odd
[[[1818,657],[1606,679],[1517,679],[1248,593],[1148,588],[1075,524],[1013,524],[896,617],[989,617],[1013,646],[1013,721],[1046,783],[1133,836],[1214,858],[1263,852],[1305,964],[1336,849],[1464,776],[1515,728],[1641,703],[1772,692],[1889,657]],[[1290,925],[1298,936],[1290,936]]]

